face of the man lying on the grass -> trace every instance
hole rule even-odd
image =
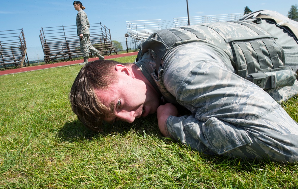
[[[108,90],[95,90],[97,97],[113,113],[104,121],[132,123],[136,118],[156,112],[160,97],[156,90],[136,79],[129,71],[118,71],[119,81]]]

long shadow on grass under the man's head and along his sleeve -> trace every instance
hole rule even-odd
[[[92,140],[93,138],[105,137],[108,135],[120,135],[125,136],[133,130],[137,135],[145,138],[145,135],[156,136],[161,139],[164,144],[168,144],[170,146],[176,146],[177,148],[189,150],[191,153],[197,154],[203,162],[206,164],[212,164],[214,166],[231,166],[231,167],[239,167],[246,169],[253,169],[254,166],[263,166],[264,164],[274,164],[270,160],[244,160],[241,158],[233,158],[227,156],[216,156],[216,155],[206,155],[196,150],[190,149],[187,145],[178,143],[169,138],[164,138],[159,131],[156,114],[149,115],[147,117],[142,117],[140,119],[136,119],[134,123],[126,123],[126,122],[116,122],[114,124],[103,125],[103,132],[94,132],[86,128],[78,119],[73,122],[66,122],[64,127],[62,127],[56,137],[62,141],[67,142],[81,142],[85,140]],[[182,150],[184,151],[184,150]],[[185,154],[181,153],[179,156],[181,158],[185,158]]]

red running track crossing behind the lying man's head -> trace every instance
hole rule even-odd
[[[133,56],[137,55],[138,52],[132,52],[132,53],[123,53],[123,54],[115,54],[111,56],[105,56],[105,59],[113,59],[113,58],[119,58],[119,57],[124,57],[124,56]],[[98,58],[89,58],[89,61],[94,61],[97,60]],[[15,69],[10,69],[10,70],[3,70],[0,71],[0,76],[1,75],[7,75],[7,74],[13,74],[13,73],[21,73],[21,72],[29,72],[29,71],[34,71],[34,70],[42,70],[42,69],[48,69],[52,67],[60,67],[60,66],[67,66],[67,65],[72,65],[72,64],[79,64],[81,62],[84,62],[84,60],[75,60],[75,61],[69,61],[69,62],[58,62],[58,63],[53,63],[53,64],[44,64],[44,65],[39,65],[39,66],[28,66],[28,67],[22,67],[22,68],[15,68]]]

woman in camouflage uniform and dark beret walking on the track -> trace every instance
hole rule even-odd
[[[101,56],[100,53],[91,45],[90,42],[90,24],[87,18],[86,12],[83,10],[83,4],[80,1],[74,1],[73,3],[75,10],[78,11],[77,13],[77,35],[80,37],[80,49],[83,53],[84,62],[80,63],[80,65],[84,65],[88,62],[89,52],[96,55],[100,60],[103,60],[105,57]]]

